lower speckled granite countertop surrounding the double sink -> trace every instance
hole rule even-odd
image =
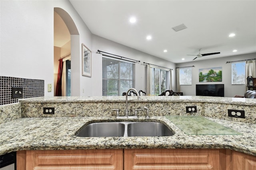
[[[115,117],[20,118],[0,124],[0,154],[17,150],[69,150],[108,148],[228,148],[256,156],[256,125],[207,118],[234,130],[239,135],[188,135],[166,117],[140,117],[136,121],[156,121],[168,125],[173,136],[161,137],[77,137],[84,125],[115,121]],[[131,120],[131,119],[128,119]],[[118,121],[128,121],[119,120]],[[132,119],[134,121],[134,119]]]

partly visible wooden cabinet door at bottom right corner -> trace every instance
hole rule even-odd
[[[233,151],[233,170],[256,170],[256,157]]]

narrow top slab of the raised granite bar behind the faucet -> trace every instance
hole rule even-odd
[[[204,102],[225,103],[234,105],[256,106],[255,99],[234,97],[210,97],[210,96],[129,96],[129,102]],[[20,103],[78,103],[78,102],[125,102],[125,96],[72,96],[72,97],[36,97],[20,99]]]

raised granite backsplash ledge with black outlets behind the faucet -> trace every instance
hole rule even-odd
[[[255,100],[255,99],[254,99]],[[151,116],[188,115],[186,106],[196,106],[197,112],[190,115],[200,115],[238,121],[256,123],[256,101],[234,99],[229,97],[179,97],[179,96],[141,96],[128,98],[130,113],[135,109],[148,107]],[[38,97],[22,99],[22,117],[97,117],[115,116],[112,109],[120,109],[124,114],[125,97]],[[54,115],[43,114],[44,107],[54,107]],[[245,111],[245,119],[228,117],[228,109]],[[138,116],[145,116],[145,111],[139,111]]]

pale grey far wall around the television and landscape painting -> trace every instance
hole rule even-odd
[[[229,57],[176,64],[176,67],[186,67],[190,65],[195,66],[195,67],[192,67],[192,85],[181,85],[180,91],[183,92],[183,95],[194,96],[196,95],[196,84],[224,84],[225,97],[234,97],[235,95],[243,96],[244,93],[246,92],[246,87],[244,85],[231,85],[231,63],[226,63],[226,62],[238,61],[238,60],[244,60],[244,59],[254,59],[254,58],[256,58],[256,53],[234,55]],[[211,82],[199,83],[199,69],[211,68],[211,67],[222,67],[222,81],[214,82],[214,83],[211,83]]]

